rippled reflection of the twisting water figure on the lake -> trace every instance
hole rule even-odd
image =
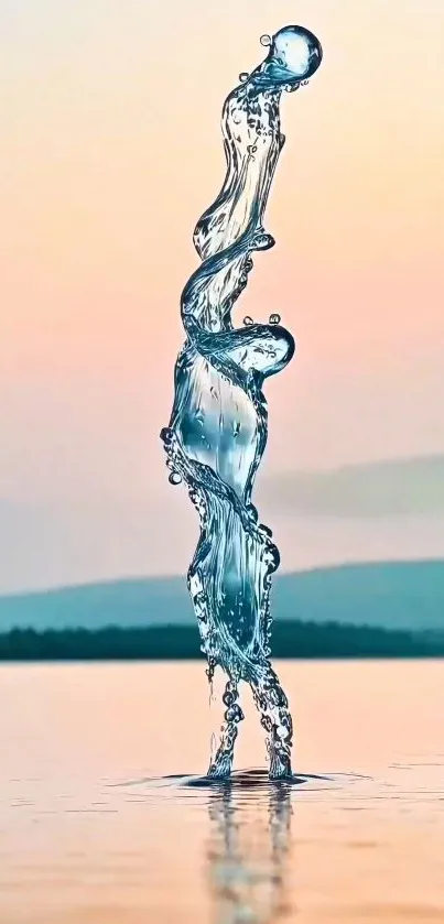
[[[285,899],[291,785],[269,784],[258,798],[260,783],[259,774],[247,773],[209,793],[207,859],[217,924],[269,924],[291,910]],[[243,784],[252,786],[247,806]]]

